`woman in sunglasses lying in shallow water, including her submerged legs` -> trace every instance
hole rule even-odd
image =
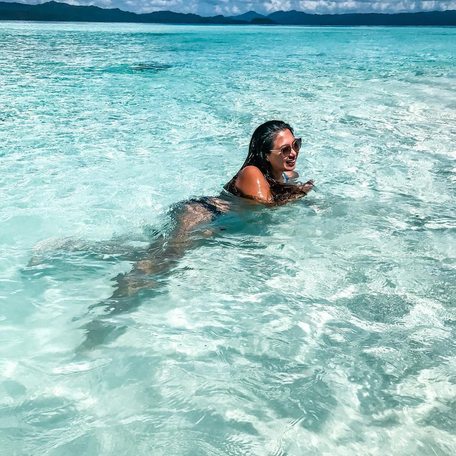
[[[207,223],[229,211],[233,195],[265,205],[281,205],[307,195],[313,181],[291,182],[298,177],[295,166],[300,147],[301,139],[295,138],[287,123],[271,120],[260,125],[252,135],[244,164],[224,186],[224,193],[177,204],[172,210],[171,230],[142,252],[142,259],[130,272],[114,279],[116,287],[110,298],[92,308],[103,307],[104,317],[109,317],[137,307],[140,291],[158,291],[159,283],[184,253],[198,239],[211,234]],[[121,329],[107,325],[103,317],[92,320],[85,328],[86,348],[106,341],[108,334],[115,336]]]

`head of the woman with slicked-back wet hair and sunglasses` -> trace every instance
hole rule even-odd
[[[252,135],[249,153],[242,165],[256,166],[266,178],[275,179],[283,171],[292,171],[296,164],[299,144],[293,128],[281,120],[270,120],[260,125]],[[283,151],[288,153],[283,153]]]

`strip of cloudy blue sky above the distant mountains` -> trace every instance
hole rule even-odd
[[[44,3],[47,0],[6,0]],[[59,0],[72,5],[96,5],[124,11],[149,13],[175,11],[201,16],[232,16],[247,11],[269,14],[274,11],[304,11],[314,14],[397,13],[456,10],[456,0]]]

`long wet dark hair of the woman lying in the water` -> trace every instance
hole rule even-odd
[[[286,201],[292,198],[292,195],[302,195],[305,192],[296,185],[283,184],[274,179],[272,166],[266,157],[271,153],[274,147],[274,141],[277,135],[284,130],[290,130],[294,135],[293,128],[282,120],[269,120],[255,129],[249,144],[249,153],[241,166],[241,171],[246,166],[256,166],[264,175],[271,187],[271,193],[274,201]],[[235,187],[235,181],[238,173],[225,185],[225,189],[233,194],[239,195],[239,190]],[[239,195],[243,196],[243,195]]]

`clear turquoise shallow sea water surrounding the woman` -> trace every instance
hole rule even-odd
[[[5,454],[454,454],[455,34],[1,23]],[[220,218],[81,350],[270,118],[317,192]]]

